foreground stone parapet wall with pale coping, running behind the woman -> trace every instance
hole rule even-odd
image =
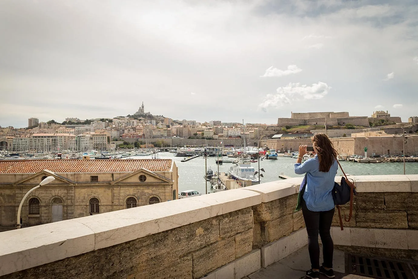
[[[334,215],[334,244],[418,260],[418,175],[350,178],[354,215],[343,231]],[[301,180],[3,232],[0,279],[240,279],[307,244],[302,213],[293,212]]]

